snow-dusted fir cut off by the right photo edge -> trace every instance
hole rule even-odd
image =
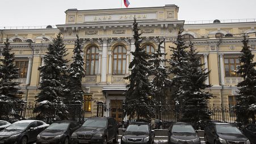
[[[253,62],[254,54],[251,53],[246,34],[243,35],[240,62],[238,74],[244,78],[244,81],[237,84],[239,88],[238,103],[236,105],[237,121],[242,124],[248,124],[249,119],[255,124],[256,120],[256,62]]]

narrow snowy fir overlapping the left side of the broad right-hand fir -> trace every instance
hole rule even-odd
[[[171,78],[171,93],[173,102],[175,105],[183,105],[184,100],[181,99],[181,90],[179,88],[182,86],[184,81],[184,67],[188,64],[188,53],[186,49],[188,46],[185,44],[185,40],[181,35],[182,31],[178,32],[177,39],[173,42],[176,46],[170,46],[171,58],[170,63],[170,74],[173,74],[174,77]]]

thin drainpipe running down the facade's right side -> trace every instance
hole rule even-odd
[[[224,100],[224,98],[223,98],[223,90],[224,90],[224,85],[221,82],[221,73],[222,73],[222,71],[220,70],[220,53],[219,53],[219,46],[220,46],[221,43],[222,43],[222,39],[220,37],[219,42],[216,45],[216,48],[217,48],[217,62],[218,62],[218,72],[219,72],[219,84],[221,86],[221,89],[220,89],[221,116],[222,116],[222,120],[225,121],[225,115],[223,113],[223,109],[224,109],[224,107],[223,107],[223,100]]]

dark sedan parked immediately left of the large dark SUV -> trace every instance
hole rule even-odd
[[[72,133],[79,128],[77,121],[58,121],[37,135],[36,143],[64,143],[68,144]]]

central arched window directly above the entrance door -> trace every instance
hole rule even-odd
[[[117,45],[113,52],[113,74],[125,74],[126,49],[123,45]]]

